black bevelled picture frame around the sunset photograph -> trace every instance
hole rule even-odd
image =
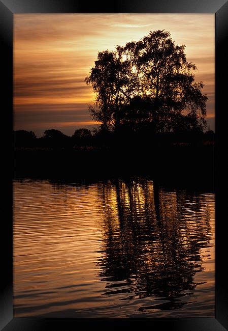
[[[12,123],[13,123],[13,14],[15,13],[70,13],[70,12],[127,12],[127,13],[215,13],[215,68],[216,68],[216,315],[215,318],[154,318],[152,319],[41,319],[41,318],[13,318],[13,212],[12,212]],[[0,297],[0,327],[9,330],[63,330],[138,328],[146,324],[156,329],[170,329],[175,331],[222,331],[228,330],[228,291],[226,268],[226,202],[221,188],[226,178],[226,161],[223,159],[222,143],[225,140],[226,122],[223,120],[226,105],[226,85],[222,77],[227,77],[227,18],[228,2],[225,0],[125,0],[105,3],[83,2],[74,0],[0,0],[0,33],[2,42],[2,108],[4,141],[3,149],[3,179],[4,197],[2,212],[2,239],[6,238],[2,247],[2,291]],[[227,107],[227,106],[226,106]],[[5,142],[8,144],[5,144]],[[9,152],[9,153],[8,153]],[[9,156],[7,156],[7,154]],[[5,174],[9,175],[6,176]],[[224,176],[224,177],[223,177]],[[5,202],[8,202],[5,203]],[[224,207],[223,207],[224,206]]]

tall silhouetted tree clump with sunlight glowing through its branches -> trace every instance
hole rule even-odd
[[[194,81],[197,68],[187,62],[184,48],[169,32],[157,30],[99,52],[85,78],[96,93],[89,107],[93,119],[109,129],[203,130],[207,96],[203,82]]]

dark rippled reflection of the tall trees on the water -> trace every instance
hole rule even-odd
[[[107,281],[104,294],[162,297],[169,302],[158,309],[179,308],[184,303],[175,300],[196,288],[194,275],[203,270],[201,248],[211,245],[204,196],[142,179],[102,183],[99,191],[106,220],[97,263]]]

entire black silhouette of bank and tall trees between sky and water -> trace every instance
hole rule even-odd
[[[85,82],[95,93],[89,112],[100,126],[72,136],[53,128],[42,137],[14,131],[14,176],[145,175],[213,183],[215,133],[205,132],[207,96],[184,49],[157,30],[99,52]]]

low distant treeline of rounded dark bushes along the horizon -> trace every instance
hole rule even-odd
[[[128,138],[128,139],[127,139]],[[125,141],[121,142],[120,146],[131,146],[136,143],[136,140],[142,144],[139,136],[136,140],[132,140],[132,136],[127,137]],[[192,142],[209,142],[213,143],[215,133],[212,130],[204,132],[166,132],[157,134],[156,141],[166,144],[172,143],[192,143]],[[68,136],[57,129],[49,129],[44,131],[42,137],[37,138],[33,131],[17,130],[13,131],[13,145],[14,147],[57,147],[57,148],[74,148],[82,146],[110,146],[119,140],[116,140],[115,132],[103,132],[100,129],[89,130],[80,128],[75,130],[74,134]]]

